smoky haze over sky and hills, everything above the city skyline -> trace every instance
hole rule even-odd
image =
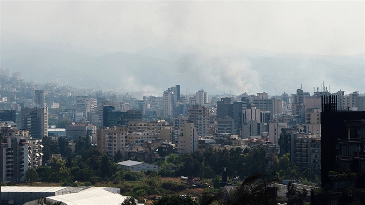
[[[1,1],[1,67],[157,95],[365,92],[364,1]],[[103,76],[101,78],[100,76]]]

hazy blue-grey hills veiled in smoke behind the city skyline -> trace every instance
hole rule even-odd
[[[162,95],[180,84],[182,94],[204,89],[208,93],[294,93],[300,84],[307,92],[322,81],[330,91],[365,92],[365,57],[235,53],[206,57],[199,53],[149,48],[101,56],[68,50],[1,50],[1,69],[22,72],[26,80],[72,85],[78,88]],[[171,60],[169,60],[171,58]],[[142,92],[143,91],[143,92]]]

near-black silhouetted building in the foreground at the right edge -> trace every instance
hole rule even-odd
[[[341,173],[346,166],[354,173],[365,171],[361,168],[365,167],[365,111],[337,111],[334,97],[323,96],[320,116],[321,175],[326,189],[336,186],[330,171]]]

